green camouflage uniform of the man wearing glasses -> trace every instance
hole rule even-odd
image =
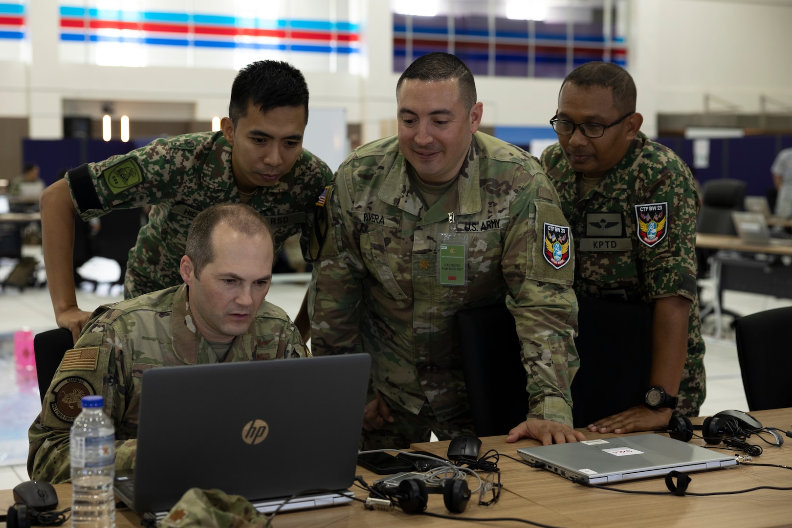
[[[572,226],[575,293],[649,303],[672,295],[691,299],[676,411],[698,416],[706,388],[695,282],[699,194],[690,169],[672,150],[639,132],[623,160],[580,198],[577,173],[558,143],[547,147],[541,161]]]

